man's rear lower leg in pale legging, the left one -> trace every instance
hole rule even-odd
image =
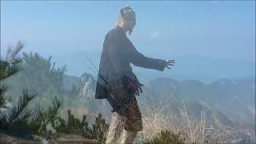
[[[110,127],[106,137],[106,144],[118,144],[118,139],[122,133],[125,119],[122,115],[114,112],[110,120]]]

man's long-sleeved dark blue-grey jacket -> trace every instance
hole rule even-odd
[[[166,62],[162,59],[147,58],[139,53],[130,39],[126,37],[124,30],[120,26],[116,26],[106,34],[103,43],[96,85],[96,99],[107,97],[107,85],[111,81],[122,78],[124,75],[129,78],[136,78],[130,63],[134,66],[163,71]]]

